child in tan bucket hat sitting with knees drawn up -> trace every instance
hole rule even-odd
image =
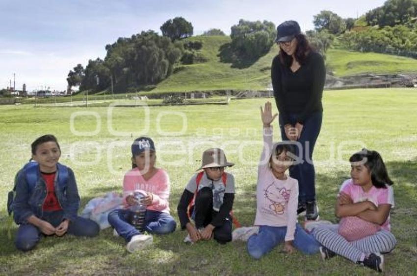
[[[185,242],[209,240],[212,236],[220,244],[232,240],[230,212],[235,199],[235,178],[225,172],[225,167],[233,165],[219,148],[203,153],[197,170],[200,172],[191,177],[178,204],[181,229],[188,231]]]

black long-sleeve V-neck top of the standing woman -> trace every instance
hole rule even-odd
[[[311,52],[295,72],[283,65],[278,56],[272,60],[272,88],[284,125],[304,124],[309,114],[323,111],[325,78],[324,60],[319,53]],[[297,114],[296,121],[291,121],[288,114]]]

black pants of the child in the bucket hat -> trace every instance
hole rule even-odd
[[[219,213],[213,210],[213,192],[210,187],[198,191],[194,205],[194,222],[197,229],[204,228]],[[232,241],[232,219],[228,215],[224,224],[213,230],[214,239],[221,244]]]

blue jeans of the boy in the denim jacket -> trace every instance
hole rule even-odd
[[[63,220],[63,211],[44,212],[42,220],[57,227]],[[68,225],[67,233],[74,236],[94,237],[99,234],[100,227],[90,219],[78,217]],[[35,247],[44,234],[36,226],[27,223],[21,224],[17,230],[15,245],[18,250],[29,251]]]

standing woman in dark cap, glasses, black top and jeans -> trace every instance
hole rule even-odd
[[[298,164],[289,170],[298,180],[298,213],[306,210],[307,220],[318,219],[315,203],[313,149],[323,119],[326,70],[323,57],[315,52],[296,21],[278,26],[280,46],[272,61],[271,78],[279,111],[281,138],[297,141]]]

